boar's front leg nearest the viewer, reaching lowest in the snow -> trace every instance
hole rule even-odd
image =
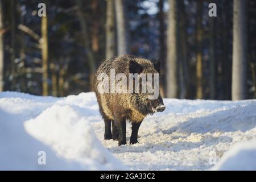
[[[126,144],[126,119],[125,118],[114,118],[114,125],[118,131],[118,146]]]

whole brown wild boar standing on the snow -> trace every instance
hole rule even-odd
[[[94,91],[105,122],[106,140],[118,140],[119,146],[126,144],[126,120],[128,120],[132,125],[130,144],[138,143],[139,126],[146,115],[166,109],[159,93],[159,72],[159,61],[152,63],[150,60],[131,55],[102,61],[94,77]],[[143,76],[146,77],[146,82]],[[125,77],[128,78],[129,85]],[[154,91],[157,93],[154,97],[152,92],[142,92],[146,90],[145,86],[150,90],[149,81],[152,82],[151,85],[154,85]],[[111,131],[111,123],[113,131]]]

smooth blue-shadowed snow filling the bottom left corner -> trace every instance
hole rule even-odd
[[[58,158],[51,148],[28,135],[16,115],[0,110],[0,121],[0,170],[82,169]],[[39,151],[46,152],[46,165],[38,164]]]

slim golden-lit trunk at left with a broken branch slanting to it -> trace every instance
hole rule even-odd
[[[48,96],[48,24],[47,16],[42,16],[41,26],[41,47],[42,47],[42,61],[43,61],[43,96]]]

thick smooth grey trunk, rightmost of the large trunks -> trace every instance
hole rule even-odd
[[[246,99],[246,0],[234,0],[232,100]]]

